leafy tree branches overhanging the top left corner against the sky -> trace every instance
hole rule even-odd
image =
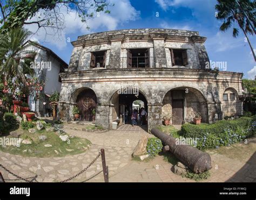
[[[76,11],[76,15],[86,24],[96,12],[110,13],[107,10],[109,5],[108,0],[6,0],[0,3],[3,17],[0,20],[1,31],[36,24],[38,30],[44,28],[46,31],[46,27],[50,27],[58,32],[64,28],[64,10],[66,13]]]

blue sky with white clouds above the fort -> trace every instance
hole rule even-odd
[[[99,17],[90,19],[90,30],[75,18],[75,13],[65,15],[66,27],[62,40],[48,36],[39,31],[33,35],[42,45],[52,49],[60,58],[69,63],[72,45],[79,35],[119,30],[125,28],[174,28],[199,31],[207,37],[206,50],[211,61],[227,63],[227,71],[243,72],[244,77],[254,78],[256,63],[245,36],[240,31],[238,38],[232,37],[232,30],[219,32],[221,22],[215,19],[215,0],[109,0],[114,3],[110,14],[100,13]],[[157,13],[159,16],[157,16]],[[29,30],[36,30],[29,25]],[[250,35],[256,51],[255,36]]]

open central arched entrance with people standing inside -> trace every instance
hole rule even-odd
[[[131,91],[131,92],[129,92]],[[133,91],[133,92],[132,92]],[[110,123],[117,117],[122,118],[122,124],[131,124],[131,116],[134,109],[139,113],[142,106],[144,106],[145,111],[147,112],[147,100],[142,92],[137,92],[135,89],[120,89],[116,91],[110,99],[110,104],[112,105],[110,110]],[[138,126],[141,126],[140,120],[138,117],[137,121]],[[147,126],[147,118],[145,120],[145,125]],[[143,127],[147,129],[147,127]]]

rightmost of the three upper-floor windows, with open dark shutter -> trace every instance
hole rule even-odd
[[[187,61],[187,49],[170,49],[172,66],[185,66],[188,64]]]

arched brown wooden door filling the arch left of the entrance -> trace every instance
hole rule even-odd
[[[77,97],[77,106],[83,121],[93,122],[96,115],[97,97],[92,90],[84,90]]]

